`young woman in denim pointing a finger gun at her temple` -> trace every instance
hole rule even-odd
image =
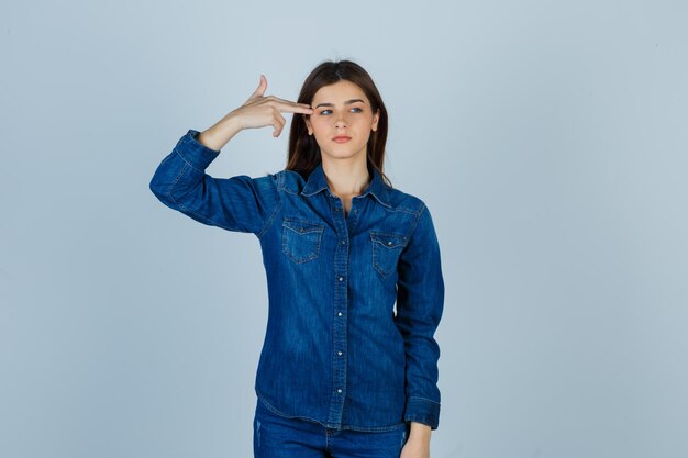
[[[324,62],[298,101],[248,100],[189,130],[151,190],[203,224],[257,236],[269,313],[256,373],[256,457],[430,455],[437,428],[444,282],[430,211],[382,171],[387,110],[368,72]],[[295,113],[287,166],[251,178],[204,172],[240,131]]]

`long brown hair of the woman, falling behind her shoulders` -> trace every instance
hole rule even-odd
[[[303,81],[299,93],[299,103],[312,103],[315,92],[323,86],[334,85],[345,79],[357,85],[370,101],[373,113],[380,110],[377,130],[370,132],[367,145],[368,165],[377,169],[382,180],[391,187],[389,178],[384,172],[385,166],[385,144],[387,143],[387,109],[377,90],[370,75],[358,64],[351,60],[325,60],[311,71]],[[289,131],[289,156],[287,159],[287,170],[299,172],[303,178],[308,178],[311,171],[322,161],[320,147],[315,137],[308,135],[306,126],[308,114],[295,114],[291,119]]]

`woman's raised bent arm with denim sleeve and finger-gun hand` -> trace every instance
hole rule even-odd
[[[262,235],[279,204],[275,176],[213,178],[206,168],[240,131],[273,125],[277,137],[286,124],[280,112],[312,113],[303,103],[264,97],[266,88],[267,80],[260,76],[258,88],[242,107],[203,132],[189,130],[177,142],[149,183],[165,205],[203,224]]]

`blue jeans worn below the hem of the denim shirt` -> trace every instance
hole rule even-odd
[[[255,458],[399,458],[409,431],[409,424],[382,433],[332,429],[274,413],[258,399],[253,453]]]

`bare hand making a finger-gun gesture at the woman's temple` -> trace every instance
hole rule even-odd
[[[313,114],[313,110],[308,103],[297,103],[275,96],[264,97],[265,89],[267,89],[267,79],[264,75],[260,75],[260,83],[248,100],[240,108],[225,114],[211,127],[201,132],[197,139],[202,145],[219,152],[234,135],[244,129],[271,125],[275,127],[273,136],[278,137],[285,124],[287,124],[287,121],[280,113]]]

